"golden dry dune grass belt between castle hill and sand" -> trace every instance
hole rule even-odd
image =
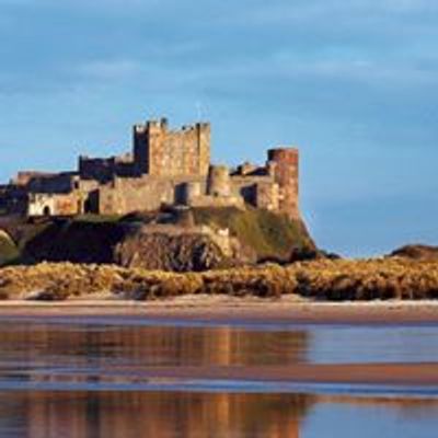
[[[390,257],[267,264],[175,274],[115,265],[42,263],[0,269],[0,297],[66,300],[106,297],[150,300],[185,295],[281,297],[320,301],[438,298],[438,262]]]

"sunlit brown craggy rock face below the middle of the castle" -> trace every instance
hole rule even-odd
[[[115,249],[115,262],[124,267],[172,272],[200,272],[227,261],[219,246],[204,234],[137,232]]]

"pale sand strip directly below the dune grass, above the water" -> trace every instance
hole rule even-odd
[[[310,302],[295,296],[278,300],[185,296],[132,302],[108,299],[62,302],[0,302],[0,318],[127,316],[154,323],[217,324],[438,324],[438,301]]]

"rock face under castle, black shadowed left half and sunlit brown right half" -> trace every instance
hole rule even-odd
[[[125,267],[206,270],[230,258],[208,230],[135,223],[50,223],[25,245],[26,263],[71,262]]]

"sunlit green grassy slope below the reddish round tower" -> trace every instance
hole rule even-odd
[[[257,258],[287,258],[292,247],[313,249],[306,226],[286,216],[262,209],[241,211],[237,208],[197,208],[197,223],[229,228],[244,245],[252,247]]]

